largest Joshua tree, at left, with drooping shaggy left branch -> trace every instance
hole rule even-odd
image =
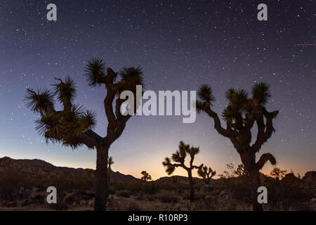
[[[106,210],[107,203],[107,157],[111,144],[121,136],[126,122],[131,115],[122,115],[120,108],[124,99],[119,95],[122,91],[131,91],[136,96],[136,85],[143,84],[143,72],[140,68],[123,68],[114,72],[106,68],[101,59],[89,60],[86,65],[87,82],[90,86],[104,86],[105,115],[107,117],[107,135],[100,136],[93,131],[96,126],[95,114],[84,111],[82,107],[74,105],[77,91],[70,77],[65,81],[57,79],[53,85],[54,91],[27,89],[27,107],[39,113],[41,118],[36,121],[37,130],[47,141],[60,142],[65,146],[77,148],[87,146],[96,149],[96,199],[94,210]],[[62,110],[55,109],[55,97],[62,104]],[[139,99],[134,98],[136,112]]]

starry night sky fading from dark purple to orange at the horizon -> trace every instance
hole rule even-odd
[[[57,21],[46,6],[57,6]],[[268,6],[268,21],[257,20],[257,6]],[[46,144],[34,130],[38,115],[25,107],[27,87],[49,87],[70,75],[76,103],[96,111],[96,132],[105,136],[105,89],[84,79],[87,60],[101,57],[113,70],[143,68],[147,90],[197,90],[210,84],[221,113],[230,87],[251,91],[270,84],[269,110],[279,110],[275,134],[261,153],[270,152],[282,169],[316,170],[316,2],[300,1],[26,1],[0,3],[0,157],[39,158],[54,165],[95,168],[96,152]],[[226,163],[240,163],[213,120],[197,115],[132,117],[112,144],[113,169],[154,179],[166,176],[162,161],[180,140],[199,146],[197,163],[221,174]],[[272,167],[265,165],[263,172]],[[176,169],[175,174],[185,175]]]

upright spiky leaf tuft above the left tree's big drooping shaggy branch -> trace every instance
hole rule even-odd
[[[55,89],[54,94],[58,96],[58,101],[62,103],[64,98],[74,101],[76,96],[76,86],[74,85],[74,81],[69,76],[65,79],[65,82],[62,82],[62,79],[55,79],[60,81],[58,84],[53,84]]]

